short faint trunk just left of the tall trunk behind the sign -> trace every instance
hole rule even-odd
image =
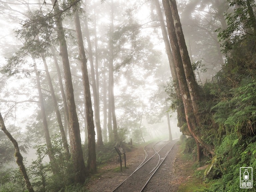
[[[103,130],[102,137],[103,142],[108,142],[107,136],[107,83],[106,83],[106,73],[103,71]]]

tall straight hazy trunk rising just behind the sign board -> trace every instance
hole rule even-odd
[[[114,34],[114,7],[113,0],[111,0],[111,25],[110,25],[110,61],[109,61],[109,73],[111,75],[110,91],[111,91],[111,104],[112,104],[112,122],[113,122],[113,135],[114,141],[118,141],[116,111],[115,111],[115,96],[114,96],[114,48],[113,48],[113,34]],[[109,86],[109,85],[108,85]]]

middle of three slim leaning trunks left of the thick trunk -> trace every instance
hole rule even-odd
[[[59,110],[59,107],[58,107],[57,99],[56,99],[56,96],[55,96],[55,93],[54,93],[51,76],[50,76],[50,73],[49,73],[49,70],[48,70],[48,66],[47,66],[47,63],[46,63],[46,60],[45,60],[44,56],[42,56],[42,60],[43,60],[43,63],[44,63],[44,68],[45,68],[45,72],[46,72],[46,78],[48,80],[48,85],[50,87],[50,93],[51,93],[51,96],[52,96],[53,107],[54,107],[54,110],[55,110],[55,113],[56,113],[56,117],[57,117],[57,121],[58,121],[58,124],[59,124],[60,134],[61,134],[64,150],[65,150],[65,153],[67,155],[67,158],[69,158],[70,157],[70,153],[69,153],[69,148],[68,148],[68,142],[67,142],[66,134],[65,134],[64,127],[63,127],[63,124],[62,124],[62,120],[61,120],[61,115],[60,115],[60,110]]]

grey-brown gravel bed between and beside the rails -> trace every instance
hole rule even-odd
[[[160,163],[163,158],[166,156],[166,153],[171,149],[176,141],[171,141],[168,143],[167,141],[158,142],[154,148],[156,151],[160,150],[165,144],[167,144],[160,152],[159,155],[161,157]],[[155,142],[156,143],[156,142]],[[155,152],[152,151],[152,143],[151,145],[145,147],[147,151],[147,158],[149,159]],[[177,152],[177,145],[175,144],[170,151],[170,153],[166,156],[165,160],[156,171],[156,173],[152,176],[151,180],[145,187],[143,191],[145,192],[169,192],[169,191],[177,191],[177,185],[175,185],[175,180],[177,176],[173,172],[173,162]],[[112,192],[120,183],[122,183],[128,176],[135,171],[135,169],[143,162],[145,159],[145,153],[143,148],[136,149],[133,152],[126,153],[127,159],[127,167],[128,169],[124,169],[123,172],[116,173],[113,171],[105,171],[98,178],[93,178],[92,181],[88,184],[88,189],[90,192]],[[152,175],[150,173],[158,164],[159,156],[154,155],[148,163],[142,166],[138,171],[136,171],[131,177],[129,177],[117,190],[117,192],[139,192],[142,187],[145,185],[146,181]],[[120,164],[116,162],[115,164],[109,164],[109,166],[104,167],[106,170],[111,169],[112,167],[118,167]],[[104,169],[102,168],[102,169]]]

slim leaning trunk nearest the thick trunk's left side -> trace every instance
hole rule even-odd
[[[62,97],[62,100],[63,100],[65,117],[66,117],[67,127],[68,127],[68,135],[69,135],[69,138],[70,138],[70,127],[69,127],[69,114],[68,114],[67,98],[66,98],[66,94],[65,94],[65,91],[64,91],[63,83],[62,83],[62,77],[61,77],[60,67],[59,67],[59,64],[58,64],[55,48],[53,47],[53,45],[51,46],[51,51],[52,51],[54,64],[55,64],[57,74],[58,74],[60,92],[61,92],[61,97]]]

